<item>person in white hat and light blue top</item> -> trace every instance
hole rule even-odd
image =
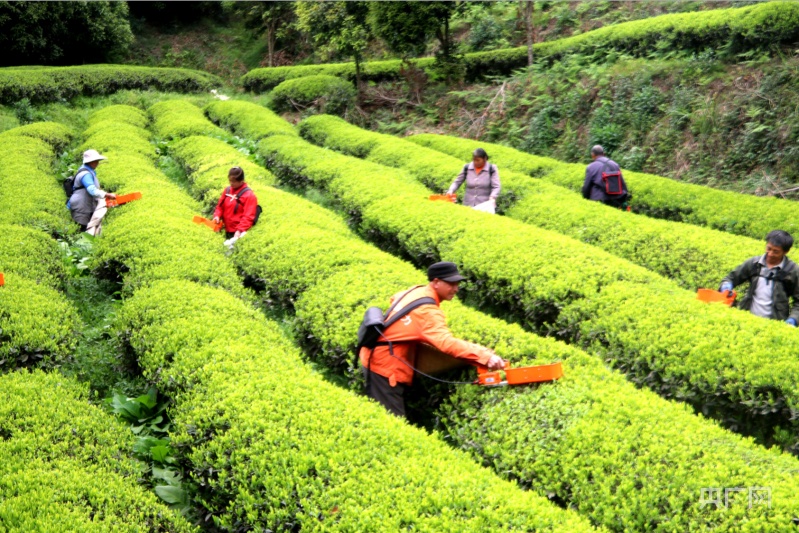
[[[83,152],[83,166],[78,169],[72,180],[72,196],[67,202],[72,220],[80,224],[81,231],[95,237],[100,234],[103,217],[108,211],[105,199],[117,197],[116,194],[105,192],[100,188],[97,165],[104,159],[107,157],[100,155],[97,150]]]

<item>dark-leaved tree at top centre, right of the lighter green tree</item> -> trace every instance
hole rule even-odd
[[[389,49],[403,56],[421,55],[432,37],[441,54],[452,54],[449,22],[462,2],[372,2],[369,25]]]

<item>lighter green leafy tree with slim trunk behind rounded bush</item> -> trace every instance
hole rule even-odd
[[[361,62],[371,33],[368,2],[317,0],[297,4],[299,28],[311,36],[317,49],[355,61],[355,84],[361,87]]]

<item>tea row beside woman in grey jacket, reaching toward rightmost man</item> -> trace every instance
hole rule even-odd
[[[435,191],[449,187],[479,145],[447,138],[448,144],[458,143],[461,148],[458,153],[463,158],[457,159],[391,135],[363,130],[329,115],[310,117],[300,123],[299,130],[315,144],[404,169]],[[538,158],[530,166],[535,163],[538,169],[545,168]],[[690,290],[718,286],[728,272],[763,251],[763,243],[753,239],[632,215],[587,202],[580,195],[526,174],[498,168],[503,188],[498,208],[510,218],[598,246]]]

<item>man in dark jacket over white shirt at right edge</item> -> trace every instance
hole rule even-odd
[[[793,237],[782,230],[766,236],[766,253],[745,261],[723,280],[719,291],[732,291],[749,282],[749,289],[738,305],[763,318],[784,320],[796,327],[799,323],[799,269],[786,254],[793,246]],[[793,299],[793,306],[789,299]]]

